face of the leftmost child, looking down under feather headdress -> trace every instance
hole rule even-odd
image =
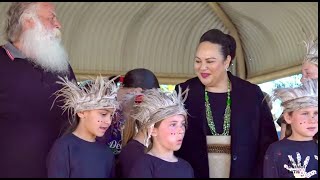
[[[83,127],[94,137],[102,137],[111,124],[114,109],[87,110],[79,113]]]

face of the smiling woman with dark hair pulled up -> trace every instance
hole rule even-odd
[[[194,70],[205,86],[214,86],[227,73],[231,57],[221,53],[221,45],[210,42],[199,44],[194,61]]]

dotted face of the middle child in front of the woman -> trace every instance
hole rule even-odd
[[[152,132],[153,143],[169,151],[180,149],[186,131],[186,120],[183,115],[174,115],[161,121]]]

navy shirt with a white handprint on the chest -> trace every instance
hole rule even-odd
[[[294,169],[290,169],[294,166],[298,166],[295,170],[306,172],[310,178],[318,178],[318,144],[314,140],[293,141],[285,138],[271,144],[265,155],[263,176],[294,178]]]

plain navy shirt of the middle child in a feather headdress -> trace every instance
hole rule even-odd
[[[131,169],[130,178],[193,178],[191,165],[178,158],[177,162],[168,162],[144,154],[139,158]]]

